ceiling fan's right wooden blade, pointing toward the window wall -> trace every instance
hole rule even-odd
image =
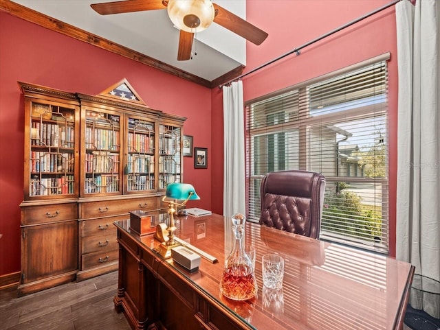
[[[260,30],[255,25],[252,25],[248,21],[241,19],[241,17],[232,14],[232,12],[225,10],[225,8],[217,5],[217,3],[212,3],[216,12],[214,17],[214,22],[225,27],[226,29],[242,36],[246,40],[249,40],[255,45],[260,45],[263,43],[268,34],[263,30]]]

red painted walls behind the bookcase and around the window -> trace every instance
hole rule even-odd
[[[248,21],[269,33],[248,43],[246,71],[299,47],[391,0],[248,1]],[[397,167],[397,56],[394,6],[243,78],[245,102],[298,82],[391,52],[389,62],[390,169]],[[212,91],[0,12],[0,276],[20,270],[23,199],[23,97],[17,80],[95,95],[129,80],[142,99],[166,113],[188,117],[185,134],[209,148],[208,169],[184,158],[185,182],[201,196],[190,206],[221,213],[223,113],[220,89]],[[395,171],[390,171],[391,255],[395,255]]]

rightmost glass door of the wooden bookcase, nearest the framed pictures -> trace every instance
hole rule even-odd
[[[159,125],[159,189],[181,180],[181,128]]]

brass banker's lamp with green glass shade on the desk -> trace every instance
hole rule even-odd
[[[179,243],[174,239],[174,232],[176,226],[174,224],[174,215],[176,207],[183,207],[188,200],[199,200],[199,196],[195,193],[194,187],[189,183],[170,183],[166,186],[166,193],[163,202],[168,203],[168,214],[170,215],[170,222],[166,228],[165,233],[168,232],[168,239],[164,237],[164,224],[158,224],[156,228],[156,238],[162,240],[159,246],[159,253],[162,257],[171,257],[171,248],[178,246]],[[160,233],[160,234],[159,234]]]

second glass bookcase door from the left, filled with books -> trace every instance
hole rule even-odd
[[[87,110],[84,134],[84,193],[122,193],[120,115]]]

